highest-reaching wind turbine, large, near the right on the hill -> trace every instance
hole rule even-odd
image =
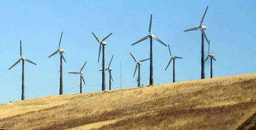
[[[206,26],[202,25],[203,23],[203,20],[204,20],[204,16],[206,14],[206,11],[208,9],[208,6],[206,7],[206,10],[204,11],[204,15],[200,21],[200,25],[198,27],[195,27],[195,28],[191,28],[191,29],[188,29],[188,30],[184,30],[184,32],[187,32],[187,31],[194,31],[194,30],[200,30],[201,33],[202,33],[202,46],[201,46],[201,79],[205,79],[205,64],[204,64],[204,38],[206,39],[206,41],[209,43],[206,35],[205,35],[205,32],[204,30],[207,29]]]

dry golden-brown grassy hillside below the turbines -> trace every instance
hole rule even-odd
[[[256,74],[57,95],[0,106],[5,129],[236,129],[256,112]]]

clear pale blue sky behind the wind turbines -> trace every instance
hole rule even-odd
[[[79,93],[79,71],[84,62],[83,92],[101,91],[101,62],[97,63],[99,39],[113,33],[106,41],[106,65],[114,54],[111,67],[113,89],[136,87],[133,72],[137,60],[150,57],[150,40],[131,44],[148,35],[150,15],[152,33],[169,44],[176,60],[176,82],[198,80],[201,71],[201,33],[183,32],[196,27],[209,6],[203,25],[216,55],[214,77],[256,72],[256,2],[255,1],[1,1],[0,2],[0,104],[21,99],[22,64],[8,68],[19,58],[19,40],[24,57],[37,65],[25,63],[25,98],[59,94],[59,54],[48,58],[57,48],[63,31],[61,48],[63,93]],[[154,82],[172,83],[173,65],[164,71],[168,47],[154,44]],[[205,42],[205,50],[208,45]],[[207,51],[205,51],[205,58]],[[120,79],[121,64],[121,79]],[[141,65],[141,83],[149,84],[150,61]],[[205,63],[206,78],[210,62]],[[137,73],[136,73],[137,75]],[[109,74],[106,71],[106,89]],[[120,82],[120,80],[122,82]],[[121,83],[121,84],[120,84]],[[121,85],[121,86],[120,86]]]

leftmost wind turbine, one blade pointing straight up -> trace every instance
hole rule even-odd
[[[10,70],[12,67],[17,65],[20,61],[22,61],[22,100],[24,100],[25,99],[25,61],[32,63],[34,65],[36,65],[36,63],[23,57],[23,55],[22,55],[22,40],[19,41],[19,55],[20,55],[20,58],[18,59],[18,61],[16,61],[8,70]]]

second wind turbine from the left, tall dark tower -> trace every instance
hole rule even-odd
[[[61,38],[62,38],[62,34],[63,32],[61,32],[61,36],[60,36],[60,40],[59,40],[59,47],[56,51],[54,51],[54,53],[52,55],[50,55],[48,58],[52,57],[53,55],[59,53],[60,55],[60,76],[59,76],[59,95],[62,95],[63,94],[63,79],[62,79],[62,59],[65,61],[66,63],[66,60],[65,58],[63,57],[63,52],[65,52],[66,50],[65,49],[60,49],[60,42],[61,42]]]

